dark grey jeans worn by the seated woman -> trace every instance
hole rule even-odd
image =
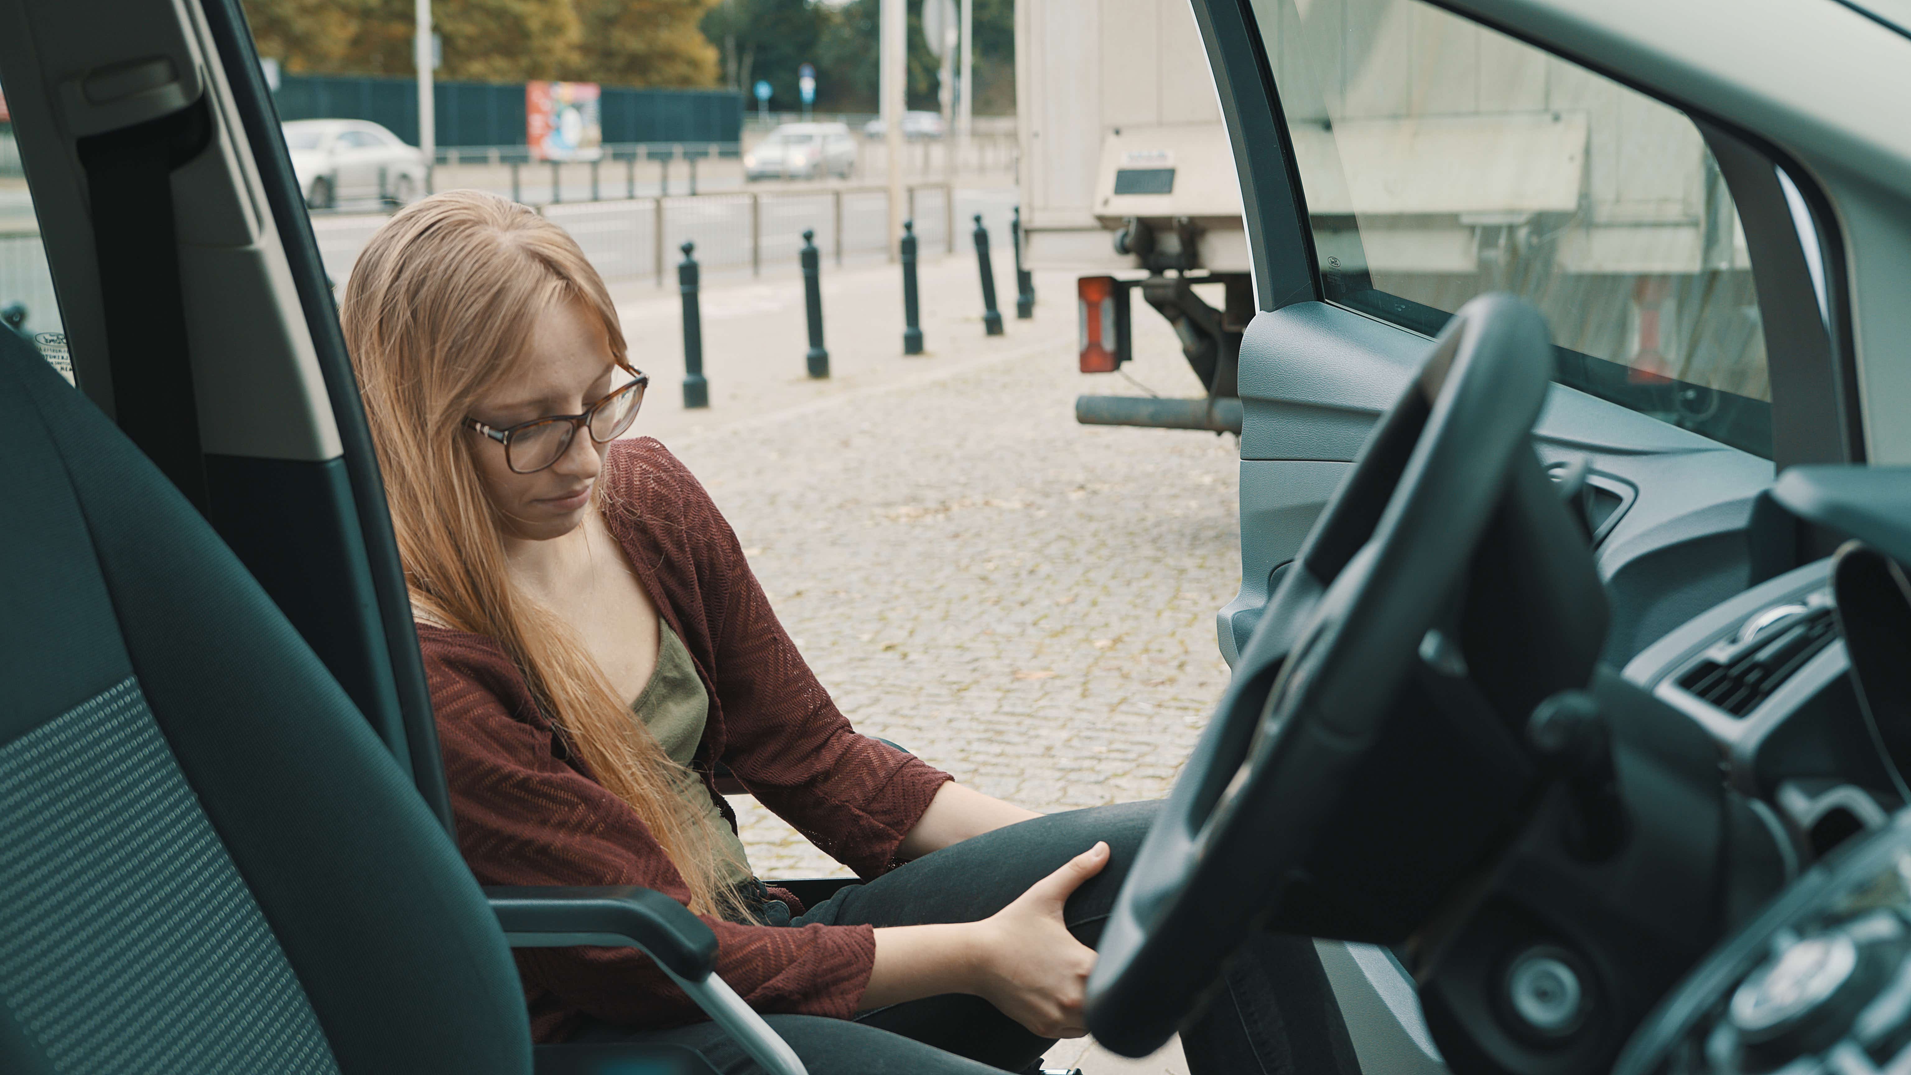
[[[977,922],[1097,840],[1106,840],[1112,851],[1108,865],[1063,909],[1068,930],[1093,947],[1154,811],[1156,803],[1122,803],[998,828],[923,855],[873,882],[845,888],[793,924],[883,928]],[[1055,1044],[1028,1033],[988,1000],[967,995],[925,997],[873,1008],[854,1020],[764,1020],[814,1075],[1026,1071]],[[757,1071],[713,1023],[667,1031],[589,1023],[571,1041],[665,1044],[699,1054],[724,1075]],[[1191,1075],[1359,1075],[1340,1008],[1313,941],[1305,937],[1252,939],[1208,1010],[1183,1027],[1181,1048]]]

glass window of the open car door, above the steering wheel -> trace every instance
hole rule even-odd
[[[1512,291],[1557,381],[1771,455],[1731,193],[1693,122],[1422,0],[1254,0],[1328,300],[1437,333]]]

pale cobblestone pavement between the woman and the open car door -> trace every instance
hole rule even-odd
[[[1070,281],[1043,283],[1043,318],[1011,312],[1049,340],[1032,354],[659,434],[860,731],[1055,811],[1168,792],[1227,681],[1213,614],[1240,564],[1235,438],[1076,425],[1078,392],[1135,386],[1074,371]],[[1198,390],[1149,329],[1133,377]],[[762,876],[843,872],[738,807]]]

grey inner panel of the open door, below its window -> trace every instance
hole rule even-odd
[[[1240,346],[1240,574],[1217,616],[1221,654],[1248,643],[1277,572],[1307,538],[1366,430],[1406,388],[1429,340],[1326,302],[1261,312]],[[1749,530],[1771,463],[1554,384],[1533,430],[1542,463],[1586,457],[1624,492],[1596,555],[1622,664],[1752,580]],[[1617,495],[1617,494],[1615,494]]]

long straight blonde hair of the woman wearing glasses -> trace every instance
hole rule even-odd
[[[569,233],[480,191],[397,212],[352,270],[340,321],[411,604],[426,622],[505,647],[590,775],[650,826],[688,884],[692,910],[749,918],[719,880],[713,823],[676,794],[684,769],[617,698],[571,625],[512,583],[503,518],[478,482],[476,442],[461,423],[560,302],[596,314],[612,356],[625,362],[617,310]]]

